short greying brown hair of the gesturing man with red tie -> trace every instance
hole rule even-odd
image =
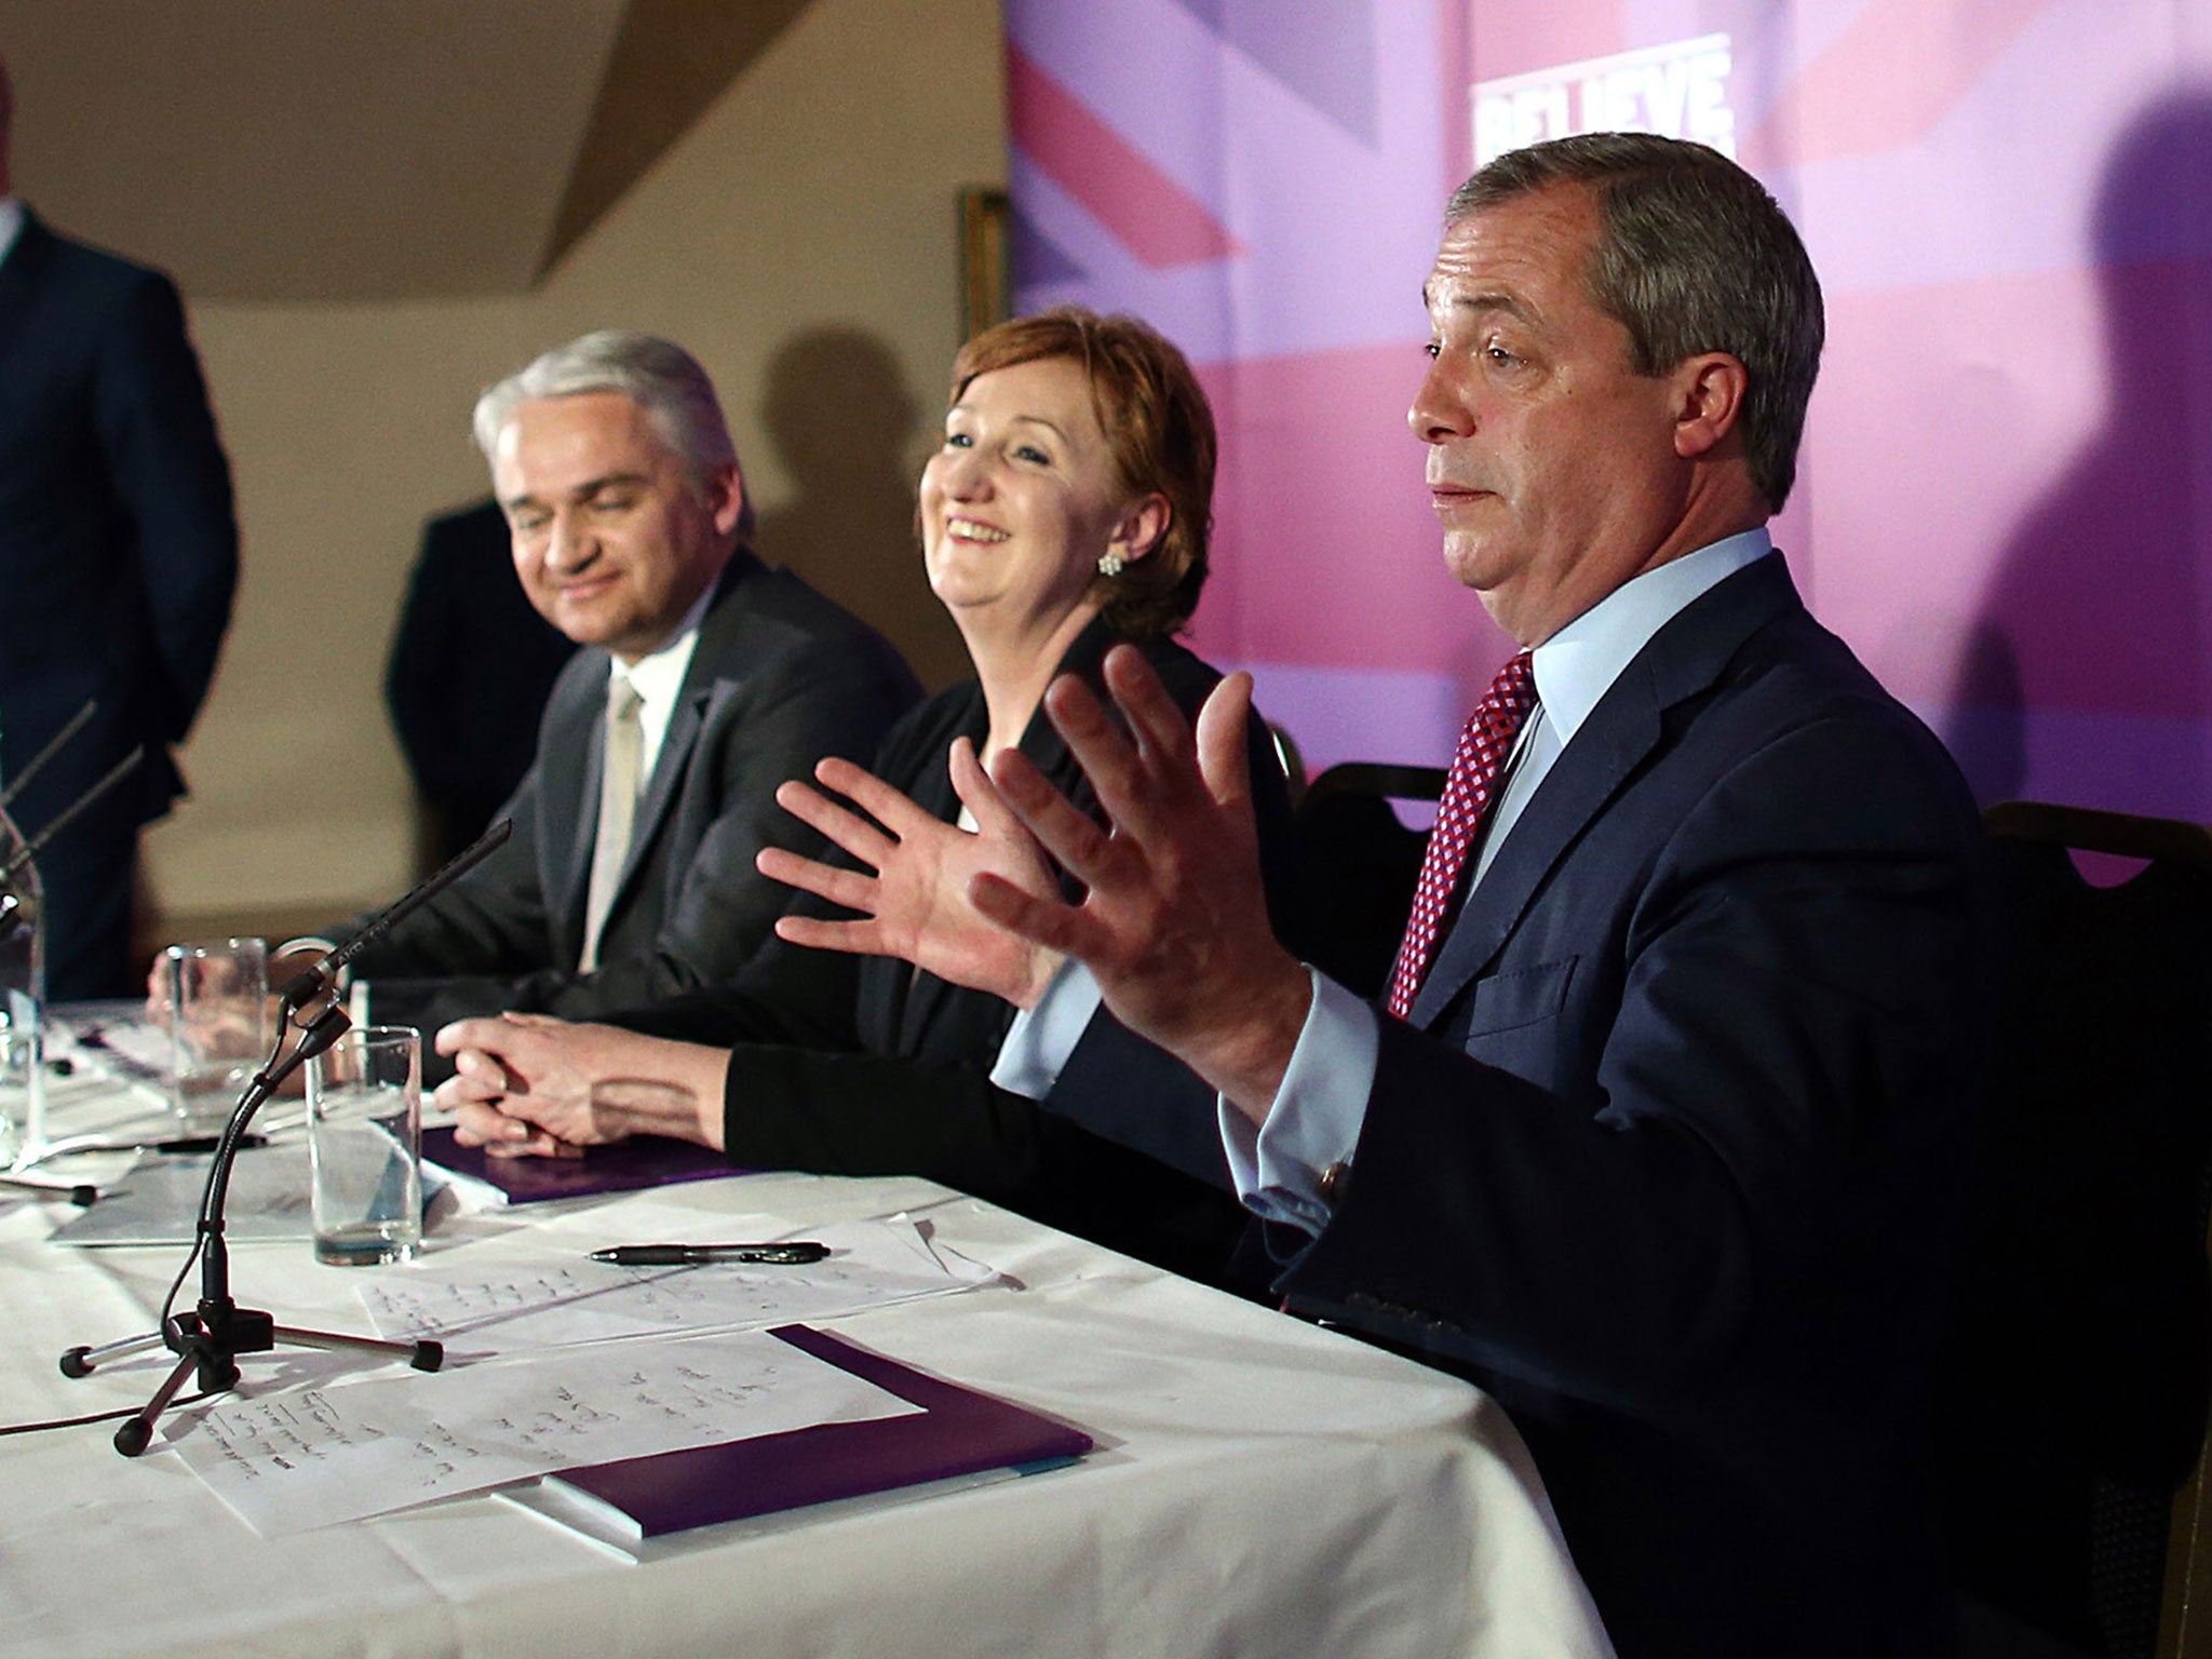
[[[1506,150],[1451,195],[1444,223],[1562,184],[1597,199],[1590,299],[1628,330],[1637,374],[1701,352],[1743,363],[1743,453],[1781,511],[1827,332],[1820,279],[1781,206],[1703,144],[1582,133]]]

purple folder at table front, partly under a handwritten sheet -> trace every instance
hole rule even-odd
[[[916,1486],[987,1469],[1057,1467],[1091,1436],[807,1325],[770,1332],[796,1349],[922,1407],[920,1416],[812,1429],[564,1469],[557,1480],[628,1515],[644,1537],[772,1515],[834,1498]]]

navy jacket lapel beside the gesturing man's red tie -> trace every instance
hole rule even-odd
[[[1467,896],[1413,1000],[1416,1026],[1433,1024],[1491,964],[1544,878],[1659,748],[1666,712],[1708,690],[1752,630],[1798,604],[1790,568],[1776,553],[1699,595],[1630,659],[1544,774]]]

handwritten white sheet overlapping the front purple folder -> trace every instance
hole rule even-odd
[[[774,1336],[728,1332],[288,1389],[181,1413],[170,1447],[274,1537],[591,1462],[918,1409]]]

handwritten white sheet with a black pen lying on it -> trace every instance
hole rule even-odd
[[[805,1267],[608,1267],[586,1252],[542,1267],[425,1263],[361,1285],[380,1336],[438,1336],[467,1352],[515,1354],[659,1332],[823,1321],[987,1285],[998,1274],[933,1248],[911,1221],[810,1228],[830,1245]],[[637,1239],[635,1243],[653,1243]]]

